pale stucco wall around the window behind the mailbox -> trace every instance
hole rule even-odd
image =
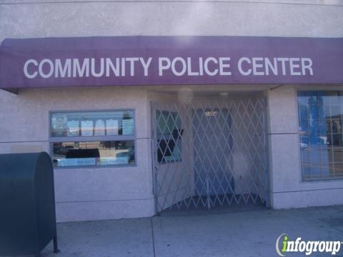
[[[134,109],[136,167],[55,168],[58,221],[154,214],[146,91],[137,88],[22,89],[0,94],[0,153],[49,152],[49,111]]]

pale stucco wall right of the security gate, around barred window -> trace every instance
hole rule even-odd
[[[299,88],[309,89],[306,86],[280,86],[268,91],[272,207],[294,208],[343,204],[342,180],[302,182],[297,121],[297,89]],[[342,90],[342,87],[329,89]]]

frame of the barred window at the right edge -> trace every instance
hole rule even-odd
[[[334,86],[294,86],[295,91],[295,105],[297,109],[297,142],[298,142],[298,153],[299,153],[299,180],[301,183],[330,183],[330,182],[339,182],[343,181],[343,176],[332,176],[332,177],[317,177],[317,178],[310,178],[304,179],[304,173],[302,169],[303,158],[302,158],[302,149],[300,146],[301,141],[301,133],[300,133],[300,109],[299,109],[299,92],[319,92],[319,91],[326,91],[326,92],[343,92],[342,89],[337,89]],[[343,95],[342,95],[343,96]],[[330,105],[331,106],[331,105]],[[343,133],[342,133],[343,134]]]

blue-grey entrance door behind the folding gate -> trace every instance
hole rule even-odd
[[[194,196],[210,208],[216,196],[234,193],[232,118],[228,109],[194,111]]]

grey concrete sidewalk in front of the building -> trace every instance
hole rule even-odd
[[[61,252],[48,246],[42,256],[277,256],[282,233],[292,240],[343,241],[343,206],[59,223],[58,233]]]

